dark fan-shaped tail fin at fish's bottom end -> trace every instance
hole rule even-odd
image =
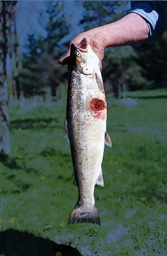
[[[95,204],[83,204],[77,201],[76,206],[68,218],[67,225],[74,224],[75,222],[88,222],[101,225],[100,214]]]

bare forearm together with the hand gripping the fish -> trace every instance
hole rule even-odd
[[[121,20],[106,24],[102,27],[90,29],[79,34],[71,43],[79,45],[85,37],[91,48],[100,59],[100,69],[102,70],[102,59],[104,49],[109,46],[135,45],[149,40],[149,27],[147,22],[136,13],[129,13]],[[70,45],[71,45],[70,43]],[[65,57],[60,59],[59,64],[68,64],[70,61],[70,47]]]

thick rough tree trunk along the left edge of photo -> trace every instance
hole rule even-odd
[[[0,1],[0,151],[10,152],[6,56],[11,42],[11,14],[17,1]]]

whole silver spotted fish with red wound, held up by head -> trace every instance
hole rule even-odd
[[[99,58],[86,38],[70,48],[70,69],[64,136],[70,143],[77,204],[67,225],[88,222],[101,225],[95,205],[95,184],[104,186],[102,159],[104,143],[111,147],[106,132],[106,97]]]

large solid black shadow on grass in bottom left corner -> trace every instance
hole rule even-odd
[[[0,255],[4,256],[82,256],[71,246],[54,243],[49,239],[7,229],[0,232]]]

